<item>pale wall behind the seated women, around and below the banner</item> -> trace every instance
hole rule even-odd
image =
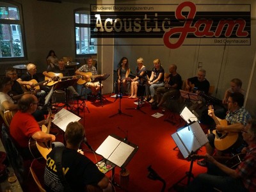
[[[157,1],[157,4],[164,3],[182,3],[184,1]],[[120,2],[118,2],[120,3]],[[134,4],[156,4],[156,1],[122,1],[122,3],[134,3]],[[225,3],[223,1],[196,1],[193,3]],[[250,73],[253,67],[253,59],[255,57],[256,38],[255,34],[256,24],[256,2],[255,1],[227,1],[228,4],[252,4],[252,39],[251,45],[246,46],[225,46],[225,45],[200,45],[200,39],[196,45],[186,46],[182,45],[177,49],[168,49],[163,46],[135,46],[126,45],[119,46],[118,44],[124,44],[125,41],[128,44],[128,39],[115,39],[115,65],[122,56],[129,58],[131,70],[134,72],[136,68],[136,59],[143,57],[146,67],[151,70],[153,60],[159,58],[164,67],[164,70],[168,72],[168,66],[175,63],[178,66],[178,72],[182,76],[182,79],[195,76],[197,72],[198,62],[202,62],[202,68],[207,71],[207,79],[211,85],[215,86],[215,92],[213,96],[222,99],[225,90],[228,88],[230,80],[237,77],[243,81],[243,88],[248,90],[248,83],[250,79]],[[207,8],[207,6],[206,6]],[[205,8],[205,10],[206,10]],[[220,6],[221,9],[221,6]],[[209,11],[209,10],[207,10]],[[138,38],[141,44],[147,44],[149,39]],[[163,41],[163,40],[159,40]],[[163,44],[163,43],[162,43]],[[116,67],[116,66],[115,66]],[[254,74],[254,73],[253,73]],[[253,78],[255,79],[255,78]],[[252,82],[252,86],[255,87],[255,82]],[[246,109],[256,116],[255,107],[252,105],[252,100],[255,100],[255,88],[250,89],[248,92],[248,101],[246,102]]]

